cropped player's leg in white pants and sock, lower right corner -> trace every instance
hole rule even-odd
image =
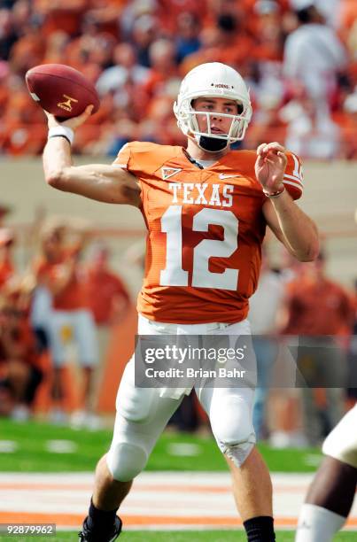
[[[296,542],[332,542],[353,505],[357,485],[357,405],[322,445],[326,455],[299,515]]]

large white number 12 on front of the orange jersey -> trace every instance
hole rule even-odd
[[[193,249],[191,286],[237,290],[238,269],[223,273],[209,270],[209,259],[229,258],[238,247],[238,219],[231,211],[205,207],[195,214],[193,231],[208,231],[209,225],[223,228],[223,239],[203,239]],[[170,205],[161,217],[161,231],[167,234],[166,267],[160,271],[160,286],[189,286],[189,272],[182,269],[182,206]]]

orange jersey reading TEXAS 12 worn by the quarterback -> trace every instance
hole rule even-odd
[[[244,320],[257,287],[266,201],[254,174],[255,151],[230,151],[205,169],[182,147],[128,143],[115,164],[136,175],[148,228],[137,309],[172,323]],[[284,177],[302,191],[299,159]]]

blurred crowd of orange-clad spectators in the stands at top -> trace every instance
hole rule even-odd
[[[0,0],[0,152],[43,150],[24,79],[33,66],[73,66],[97,85],[100,110],[74,151],[114,156],[132,140],[184,143],[172,112],[180,81],[213,60],[251,89],[244,147],[357,157],[355,0]]]

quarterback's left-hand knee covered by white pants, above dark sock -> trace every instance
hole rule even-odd
[[[129,482],[144,470],[148,456],[143,447],[126,442],[112,445],[106,463],[118,482]]]

